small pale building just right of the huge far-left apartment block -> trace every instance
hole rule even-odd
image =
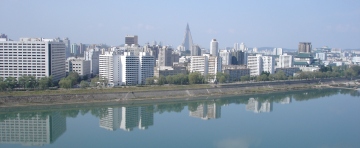
[[[80,76],[90,76],[91,62],[82,58],[69,57],[65,62],[66,73],[77,72]]]

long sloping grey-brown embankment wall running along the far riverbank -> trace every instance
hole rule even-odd
[[[265,93],[272,91],[287,91],[308,89],[314,84],[344,83],[348,79],[316,79],[296,81],[273,81],[261,83],[231,83],[214,85],[209,89],[192,90],[166,90],[166,91],[142,91],[142,92],[119,92],[106,94],[77,94],[77,95],[39,95],[39,96],[2,96],[0,107],[49,105],[49,104],[73,104],[90,102],[123,102],[133,101],[159,101],[169,98],[194,98],[198,96],[216,95],[241,95],[251,93]]]

